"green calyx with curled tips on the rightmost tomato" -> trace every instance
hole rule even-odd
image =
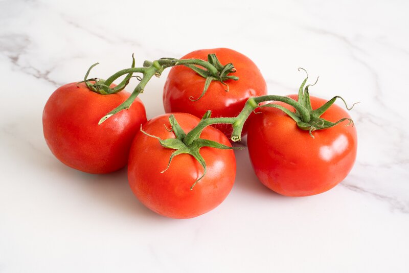
[[[337,125],[337,124],[339,124],[339,123],[341,123],[343,121],[349,121],[347,126],[350,125],[350,124],[353,125],[353,121],[350,118],[343,118],[343,119],[340,119],[340,120],[335,121],[335,122],[327,121],[327,120],[321,118],[323,113],[325,111],[327,111],[328,108],[331,107],[332,104],[334,104],[334,102],[336,101],[337,98],[341,99],[344,102],[345,107],[348,110],[351,110],[356,103],[354,103],[352,105],[352,107],[348,107],[347,103],[345,102],[345,100],[342,97],[335,96],[332,99],[330,99],[328,102],[326,102],[324,105],[322,105],[321,107],[319,107],[317,109],[312,109],[308,88],[310,86],[315,85],[317,83],[317,81],[318,81],[318,78],[316,79],[315,83],[305,85],[307,83],[307,80],[308,80],[308,73],[307,73],[307,71],[305,69],[303,69],[301,67],[298,70],[299,71],[303,70],[307,74],[307,77],[302,82],[302,84],[300,86],[300,89],[299,89],[299,92],[298,92],[298,104],[302,106],[301,108],[298,107],[298,108],[296,108],[296,112],[292,112],[291,110],[289,110],[289,109],[287,109],[287,108],[285,108],[285,107],[283,107],[281,105],[277,105],[277,104],[266,104],[266,105],[261,105],[260,107],[279,108],[280,110],[285,112],[291,119],[293,119],[297,123],[297,126],[300,129],[309,131],[309,134],[311,135],[312,138],[314,138],[314,135],[312,134],[313,131],[331,128],[331,127],[333,127],[333,126],[335,126],[335,125]],[[303,109],[304,112],[301,113],[300,109]],[[305,110],[307,110],[307,111],[305,112]]]

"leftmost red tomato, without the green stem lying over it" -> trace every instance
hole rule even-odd
[[[122,91],[100,95],[84,83],[69,83],[51,95],[42,115],[44,138],[51,152],[67,166],[88,173],[123,168],[133,137],[146,122],[145,107],[137,99],[101,125],[99,120],[130,96]]]

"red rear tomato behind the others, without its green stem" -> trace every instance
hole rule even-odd
[[[193,51],[181,59],[207,60],[208,54],[215,53],[222,65],[233,63],[239,80],[227,80],[229,92],[220,81],[212,81],[206,94],[198,101],[190,98],[200,97],[206,79],[186,66],[172,67],[165,83],[163,103],[167,113],[186,112],[201,118],[207,110],[212,110],[212,117],[236,117],[250,97],[267,94],[267,85],[260,70],[252,60],[243,54],[225,48]],[[232,127],[227,124],[217,124],[216,128],[228,137]],[[243,129],[243,134],[246,127]]]

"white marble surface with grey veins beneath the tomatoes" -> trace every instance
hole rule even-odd
[[[409,17],[406,1],[0,1],[0,272],[408,272]],[[329,192],[288,198],[238,151],[217,209],[174,220],[146,209],[126,170],[89,175],[42,136],[57,86],[143,60],[228,47],[252,58],[269,93],[361,101],[358,157]],[[165,72],[141,95],[163,112]],[[130,84],[131,89],[135,83]]]

